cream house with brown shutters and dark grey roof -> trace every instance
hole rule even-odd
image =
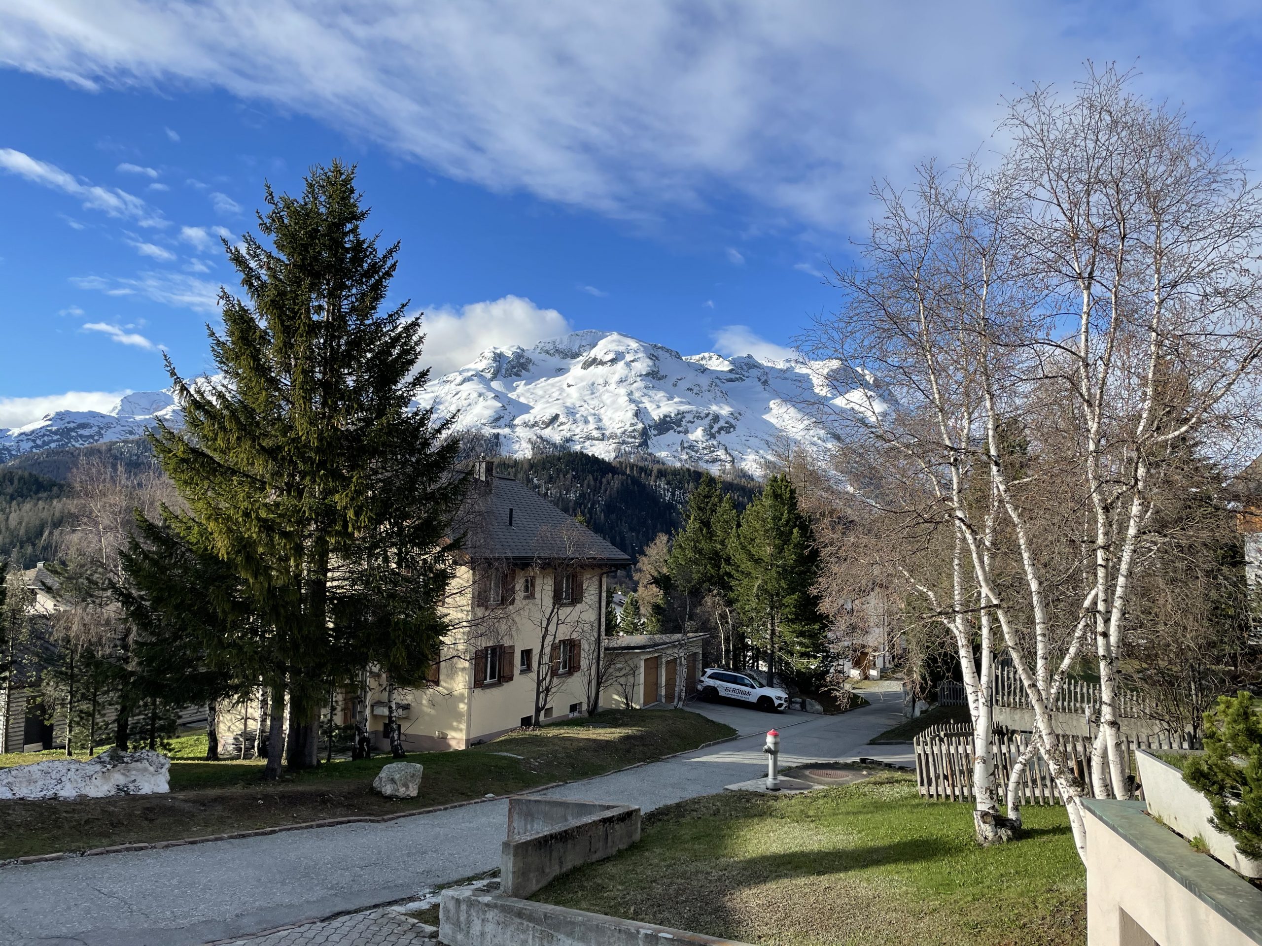
[[[540,721],[584,714],[603,660],[604,588],[631,559],[530,487],[478,460],[459,521],[451,633],[424,687],[370,675],[374,742],[390,704],[409,752],[463,749]],[[346,720],[350,721],[350,720]]]

